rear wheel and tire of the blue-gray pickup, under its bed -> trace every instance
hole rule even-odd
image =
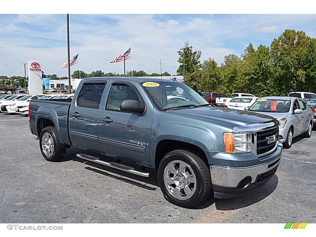
[[[45,127],[40,133],[40,151],[47,161],[59,161],[64,158],[66,147],[59,142],[54,127]]]

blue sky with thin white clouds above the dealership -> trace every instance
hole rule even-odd
[[[79,53],[80,61],[80,65],[71,67],[71,74],[79,67],[86,73],[102,70],[122,74],[124,63],[110,61],[130,47],[132,59],[126,61],[126,71],[160,73],[161,60],[162,72],[175,75],[179,67],[177,51],[185,41],[202,52],[201,62],[214,58],[220,65],[225,55],[240,56],[249,43],[255,48],[270,46],[286,29],[316,38],[316,15],[312,14],[217,14],[225,12],[220,9],[200,11],[212,14],[190,14],[190,8],[158,10],[166,14],[157,14],[149,10],[150,6],[129,11],[120,10],[119,4],[113,7],[115,14],[108,14],[112,11],[106,6],[102,6],[106,14],[100,14],[102,10],[94,8],[98,14],[69,10],[70,57]],[[22,64],[27,60],[40,62],[45,74],[68,75],[68,70],[62,69],[67,60],[66,14],[53,14],[60,10],[52,9],[45,14],[24,9],[0,11],[0,75],[24,76]],[[192,12],[199,11],[193,8]]]

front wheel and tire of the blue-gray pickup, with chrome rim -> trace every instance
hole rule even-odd
[[[168,202],[192,208],[209,197],[212,183],[208,166],[191,152],[175,150],[163,157],[158,183]]]

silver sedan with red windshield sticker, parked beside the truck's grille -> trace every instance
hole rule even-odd
[[[269,96],[258,99],[248,111],[269,115],[279,120],[279,140],[290,148],[293,137],[310,137],[314,113],[306,102],[296,97]]]

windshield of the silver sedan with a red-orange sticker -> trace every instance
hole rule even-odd
[[[290,100],[259,99],[250,106],[248,111],[284,113],[290,111],[290,106]]]

